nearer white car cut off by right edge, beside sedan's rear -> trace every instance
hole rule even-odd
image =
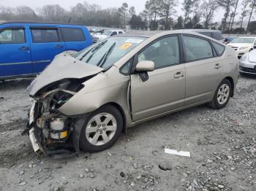
[[[256,49],[245,53],[239,60],[241,74],[256,74]]]

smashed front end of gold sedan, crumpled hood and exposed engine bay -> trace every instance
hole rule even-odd
[[[88,114],[67,115],[61,106],[84,88],[83,82],[101,68],[81,63],[68,55],[58,55],[27,91],[33,99],[23,135],[28,134],[39,156],[69,157],[79,152],[80,131]]]

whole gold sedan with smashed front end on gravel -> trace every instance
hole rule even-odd
[[[191,106],[226,106],[236,53],[186,31],[131,32],[75,55],[57,55],[28,87],[23,134],[38,155],[65,157],[112,146],[126,128]]]

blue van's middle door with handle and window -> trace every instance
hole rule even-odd
[[[39,73],[61,52],[65,51],[65,44],[61,39],[57,27],[34,27],[29,30],[31,34],[31,58],[34,71]]]

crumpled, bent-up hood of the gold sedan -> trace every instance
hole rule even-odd
[[[42,87],[61,79],[81,79],[98,74],[103,69],[82,61],[78,61],[67,54],[57,55],[52,63],[31,82],[27,88],[29,95],[35,95]]]

